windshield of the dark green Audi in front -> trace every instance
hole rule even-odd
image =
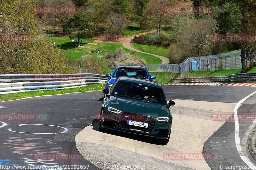
[[[166,105],[163,89],[143,84],[119,81],[111,92],[111,95],[147,100]]]

